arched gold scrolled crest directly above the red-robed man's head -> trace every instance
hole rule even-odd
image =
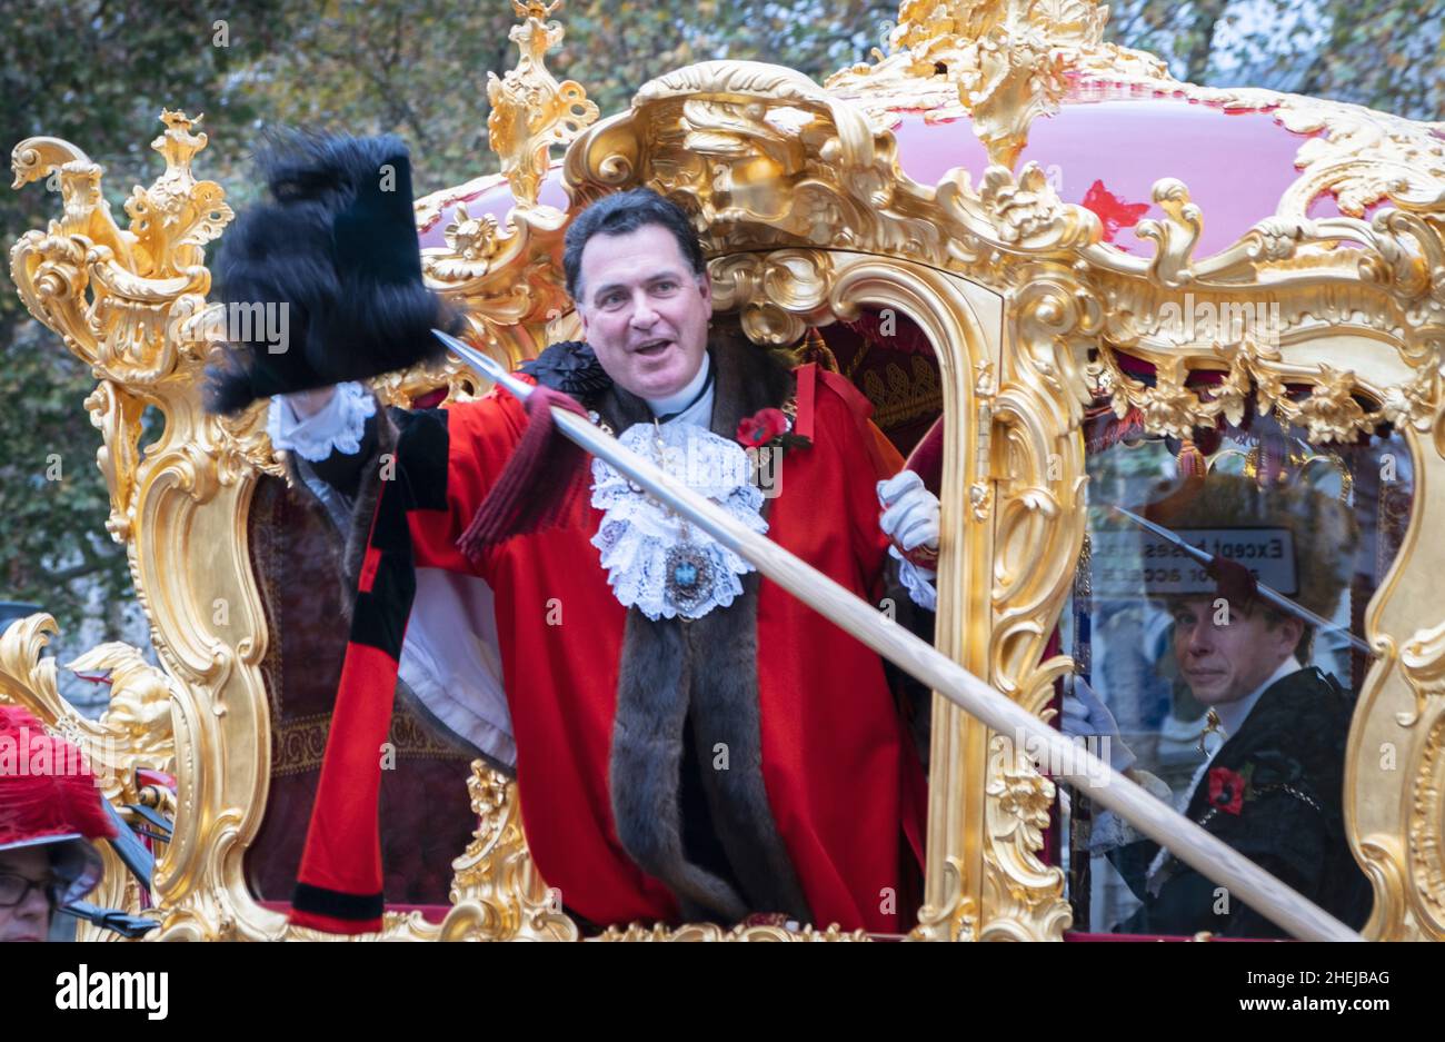
[[[577,199],[634,184],[672,194],[712,254],[802,246],[936,256],[929,192],[900,179],[894,147],[861,110],[792,69],[717,61],[646,84],[630,113],[572,145],[564,171]]]

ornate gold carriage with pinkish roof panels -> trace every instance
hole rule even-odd
[[[581,87],[545,68],[562,38],[549,9],[519,12],[520,64],[488,84],[501,173],[416,205],[428,282],[465,312],[470,338],[516,363],[575,331],[559,254],[581,205],[639,184],[681,202],[718,306],[754,341],[809,343],[902,448],[952,418],[936,646],[1040,715],[1088,655],[1078,611],[1107,549],[1088,496],[1120,473],[1108,454],[1166,445],[1178,460],[1192,447],[1205,467],[1259,475],[1264,449],[1240,425],[1273,423],[1287,436],[1270,473],[1328,484],[1370,522],[1371,564],[1342,607],[1364,650],[1340,659],[1357,691],[1342,806],[1373,890],[1363,932],[1445,939],[1445,601],[1431,593],[1445,565],[1425,538],[1445,517],[1429,499],[1445,487],[1441,126],[1179,82],[1104,43],[1107,10],[1090,0],[905,0],[892,53],[824,85],[704,62],[598,120]],[[87,721],[40,656],[55,623],[32,616],[0,642],[0,697],[107,749],[117,802],[137,799],[136,767],[176,778],[153,892],[107,853],[101,903],[150,908],[153,939],[301,936],[285,877],[344,634],[308,634],[288,600],[289,584],[324,585],[325,571],[264,410],[201,410],[205,247],[231,211],[192,173],[205,134],[181,113],[162,121],[152,147],[166,169],[134,189],[129,230],[78,147],[19,143],[16,186],[58,172],[64,212],[13,246],[10,269],[30,312],[94,367],[85,406],[104,438],[107,530],[127,549],[162,666],[124,646],[85,656],[114,689]],[[877,335],[889,321],[906,335]],[[478,390],[455,360],[377,382],[402,406],[438,389]],[[142,451],[150,406],[165,428]],[[1130,642],[1140,624],[1107,620]],[[399,840],[415,863],[383,936],[577,938],[532,867],[514,783],[403,715],[393,741],[405,769],[389,819],[422,827]],[[1058,939],[1087,925],[1055,783],[942,698],[931,741],[910,936]],[[860,935],[617,923],[603,936]]]

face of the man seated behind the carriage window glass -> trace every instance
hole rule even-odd
[[[1227,607],[1227,611],[1225,611]],[[1191,694],[1205,705],[1244,698],[1295,653],[1298,619],[1270,624],[1254,606],[1215,607],[1214,597],[1188,597],[1173,606],[1175,658]]]

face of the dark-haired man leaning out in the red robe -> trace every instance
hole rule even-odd
[[[640,397],[666,397],[702,366],[712,283],[696,276],[660,224],[592,236],[582,249],[577,312],[613,380]]]

